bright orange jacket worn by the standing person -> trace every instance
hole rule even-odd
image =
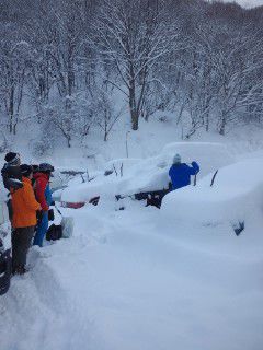
[[[31,179],[22,177],[23,187],[16,189],[12,196],[14,229],[36,225],[36,210],[41,210],[41,205],[36,201]]]

